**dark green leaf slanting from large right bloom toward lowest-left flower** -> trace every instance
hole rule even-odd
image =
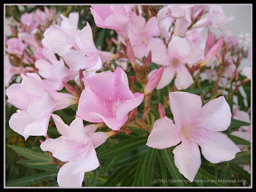
[[[116,154],[125,154],[131,150],[135,150],[138,146],[145,145],[145,143],[146,138],[129,138],[102,151],[102,153],[98,155],[98,158],[113,158]]]

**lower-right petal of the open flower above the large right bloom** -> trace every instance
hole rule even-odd
[[[185,90],[193,84],[194,80],[186,66],[179,66],[176,72],[177,77],[174,83],[178,90]]]

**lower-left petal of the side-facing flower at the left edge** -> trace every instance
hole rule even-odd
[[[33,122],[33,117],[26,113],[25,110],[17,110],[9,120],[10,129],[14,130],[16,133],[21,134],[25,140],[29,135],[24,134],[26,126]]]

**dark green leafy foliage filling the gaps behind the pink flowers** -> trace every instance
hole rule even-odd
[[[79,13],[78,29],[82,30],[86,22],[90,23],[93,31],[95,45],[100,50],[110,51],[106,39],[117,38],[117,34],[112,30],[105,30],[95,26],[94,18],[90,14],[90,6],[47,6],[53,8],[56,15],[64,14],[68,16],[72,12]],[[6,6],[6,18],[14,18],[19,21],[24,13],[34,12],[36,9],[44,10],[43,6]],[[117,47],[115,47],[116,49]],[[158,68],[152,63],[151,70]],[[134,75],[134,71],[127,72],[128,75]],[[242,81],[244,77],[239,76]],[[20,79],[14,76],[13,82]],[[150,122],[152,124],[159,118],[158,102],[164,104],[164,98],[168,95],[168,90],[174,85],[174,81],[162,90],[154,90],[152,94],[153,109],[150,110]],[[230,86],[232,87],[232,86]],[[135,90],[141,90],[141,85],[134,83]],[[240,110],[249,110],[250,107],[250,82],[243,86],[248,105],[245,105],[243,97],[239,91],[234,95],[238,96],[238,106]],[[206,96],[213,90],[213,84],[204,81],[201,86],[195,83],[186,92],[193,94],[205,95],[204,100],[209,100]],[[232,88],[229,92],[232,91]],[[7,99],[7,98],[6,98]],[[230,108],[233,108],[233,98],[228,100]],[[70,106],[64,110],[58,110],[58,114],[64,122],[70,125],[75,118],[77,106]],[[24,138],[10,129],[8,122],[10,116],[17,109],[6,103],[6,186],[58,186],[57,174],[60,162],[56,162],[50,154],[42,152],[40,142],[44,137]],[[143,104],[138,107],[139,111],[143,110]],[[170,108],[166,108],[166,116],[173,118]],[[87,123],[89,124],[89,123]],[[166,150],[155,150],[146,146],[148,133],[145,130],[128,127],[130,134],[120,133],[109,138],[102,146],[97,148],[97,155],[101,166],[97,170],[85,174],[83,186],[250,186],[250,174],[238,165],[250,165],[250,142],[242,138],[230,135],[231,131],[238,130],[240,126],[249,126],[247,122],[241,122],[232,119],[231,125],[224,133],[229,136],[237,145],[243,145],[248,148],[247,151],[238,153],[236,158],[230,162],[221,162],[212,164],[206,161],[201,155],[202,166],[200,167],[195,180],[211,179],[218,180],[231,179],[237,182],[155,182],[154,179],[183,179],[186,178],[178,172],[174,166],[174,156],[171,152],[174,148]],[[107,127],[102,131],[109,130]],[[60,136],[54,127],[54,122],[50,120],[48,129],[50,138]],[[56,165],[58,164],[58,166]],[[238,182],[238,179],[246,182]]]

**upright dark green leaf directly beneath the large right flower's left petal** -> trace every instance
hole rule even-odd
[[[142,186],[153,186],[153,171],[156,154],[157,150],[151,148],[142,164]]]

